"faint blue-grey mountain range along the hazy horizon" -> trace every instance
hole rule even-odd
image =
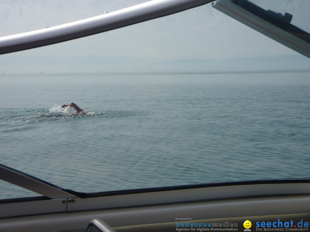
[[[310,69],[303,55],[234,58],[222,61],[155,58],[102,57],[94,55],[63,58],[57,56],[1,56],[2,73],[118,72],[118,71],[262,71]]]

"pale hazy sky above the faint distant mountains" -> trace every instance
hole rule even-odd
[[[143,2],[147,1],[2,0],[0,36],[69,23]],[[297,53],[207,4],[126,28],[11,55],[73,57],[87,54],[224,60]]]

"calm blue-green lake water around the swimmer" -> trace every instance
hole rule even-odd
[[[0,83],[0,162],[63,188],[310,177],[310,71],[1,74]],[[61,108],[70,102],[87,114]],[[34,195],[0,181],[2,199]]]

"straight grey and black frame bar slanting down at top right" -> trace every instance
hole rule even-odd
[[[213,8],[310,58],[310,34],[247,0],[217,0]],[[292,15],[290,15],[292,16]],[[290,20],[289,20],[290,21]]]

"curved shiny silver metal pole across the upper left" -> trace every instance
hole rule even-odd
[[[104,15],[0,38],[0,54],[73,40],[201,6],[213,0],[153,0]]]

